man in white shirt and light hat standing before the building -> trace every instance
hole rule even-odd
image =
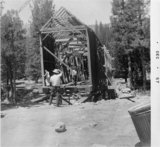
[[[56,95],[56,106],[59,107],[62,104],[61,93],[60,93],[60,85],[61,85],[61,77],[63,72],[59,69],[53,70],[53,75],[50,77],[51,84],[51,94],[49,104],[52,104],[53,96]]]

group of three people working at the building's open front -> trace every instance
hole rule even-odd
[[[74,81],[74,84],[77,84],[77,71],[73,69],[72,71],[72,78]],[[45,83],[46,86],[51,86],[50,91],[50,98],[49,98],[49,104],[52,104],[53,96],[56,96],[56,106],[62,104],[62,97],[60,92],[60,85],[61,85],[61,77],[63,75],[63,72],[60,69],[54,69],[52,71],[53,75],[50,76],[49,71],[45,70]]]

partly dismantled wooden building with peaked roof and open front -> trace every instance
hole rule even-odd
[[[82,95],[107,90],[104,48],[88,26],[65,8],[60,8],[42,27],[40,32],[41,69],[43,88],[44,70],[63,70],[62,88],[78,91]],[[71,70],[78,71],[78,82],[72,82]],[[102,92],[103,91],[103,92]],[[81,95],[81,96],[82,96]]]

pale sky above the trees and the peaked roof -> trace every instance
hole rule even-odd
[[[3,14],[10,9],[18,10],[27,0],[4,0]],[[81,22],[92,25],[95,21],[109,23],[111,16],[112,0],[53,0],[58,10],[61,6],[69,10]],[[32,0],[31,0],[32,3]],[[26,6],[21,12],[20,17],[24,23],[31,20],[31,11]]]

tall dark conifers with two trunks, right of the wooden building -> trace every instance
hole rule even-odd
[[[128,77],[133,86],[134,74],[136,67],[140,68],[140,72],[143,78],[143,87],[145,89],[145,57],[148,55],[149,46],[146,44],[149,42],[149,34],[145,35],[144,29],[146,22],[146,2],[145,0],[113,0],[112,3],[112,17],[111,27],[114,34],[112,41],[112,47],[114,48],[114,55],[118,66],[120,68],[126,68],[126,64],[123,64],[122,58],[128,56]],[[148,23],[148,22],[146,22]],[[148,25],[148,24],[147,24]],[[146,32],[150,32],[147,30]],[[147,46],[147,47],[146,47]],[[144,48],[145,52],[144,53]],[[139,56],[137,56],[139,55]],[[139,58],[138,58],[139,57]],[[136,61],[135,59],[138,59]],[[139,63],[141,60],[141,63]],[[141,66],[140,66],[141,64]],[[136,67],[135,67],[136,65]],[[138,65],[138,66],[137,66]]]

